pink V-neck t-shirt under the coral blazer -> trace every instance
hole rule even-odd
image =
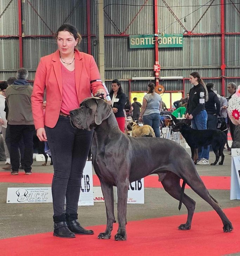
[[[63,83],[63,101],[60,111],[69,115],[69,111],[79,108],[75,85],[75,70],[69,71],[63,64],[61,64],[61,76]]]

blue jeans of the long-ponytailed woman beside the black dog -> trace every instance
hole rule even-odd
[[[199,114],[192,119],[192,128],[195,130],[207,129],[207,111],[202,110]],[[209,146],[198,148],[198,160],[205,158],[209,159]]]

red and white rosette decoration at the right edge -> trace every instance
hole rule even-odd
[[[232,95],[232,98],[228,101],[228,116],[232,123],[240,124],[240,85],[238,86],[236,93]]]

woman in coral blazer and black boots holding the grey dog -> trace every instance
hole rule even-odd
[[[41,58],[36,71],[32,112],[37,136],[40,141],[48,141],[52,154],[53,235],[72,238],[75,234],[93,234],[77,221],[81,179],[93,131],[74,129],[69,111],[79,108],[91,93],[106,92],[93,57],[76,49],[81,40],[77,29],[63,24],[56,38],[58,50]]]

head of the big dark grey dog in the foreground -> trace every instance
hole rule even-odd
[[[111,107],[101,98],[86,98],[80,104],[80,108],[70,111],[70,121],[73,127],[90,131],[106,120],[111,113]]]

